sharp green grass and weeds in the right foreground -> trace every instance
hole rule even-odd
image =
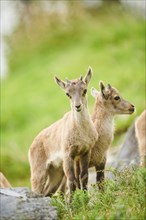
[[[103,193],[96,187],[88,193],[77,190],[70,204],[64,195],[54,197],[58,220],[144,220],[146,170],[114,173],[115,180],[105,181]]]

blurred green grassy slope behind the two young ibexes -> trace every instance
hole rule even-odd
[[[21,13],[6,38],[11,53],[1,80],[1,171],[13,186],[30,186],[27,154],[34,137],[70,110],[54,75],[73,79],[92,67],[90,113],[90,88],[99,89],[100,80],[136,106],[133,115],[116,117],[113,146],[145,108],[145,21],[121,4],[85,7],[82,1],[67,2],[63,13],[32,1]]]

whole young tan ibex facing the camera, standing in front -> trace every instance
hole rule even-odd
[[[89,68],[84,79],[65,83],[55,77],[70,98],[71,111],[44,129],[30,147],[31,185],[36,193],[50,195],[56,192],[65,173],[71,194],[77,186],[76,163],[80,164],[82,188],[87,188],[90,152],[98,138],[86,99],[91,76]]]

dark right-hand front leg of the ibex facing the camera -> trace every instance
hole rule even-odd
[[[88,165],[89,165],[89,152],[85,153],[81,157],[80,161],[80,166],[81,166],[81,184],[82,184],[82,189],[87,190],[87,184],[88,184]]]

